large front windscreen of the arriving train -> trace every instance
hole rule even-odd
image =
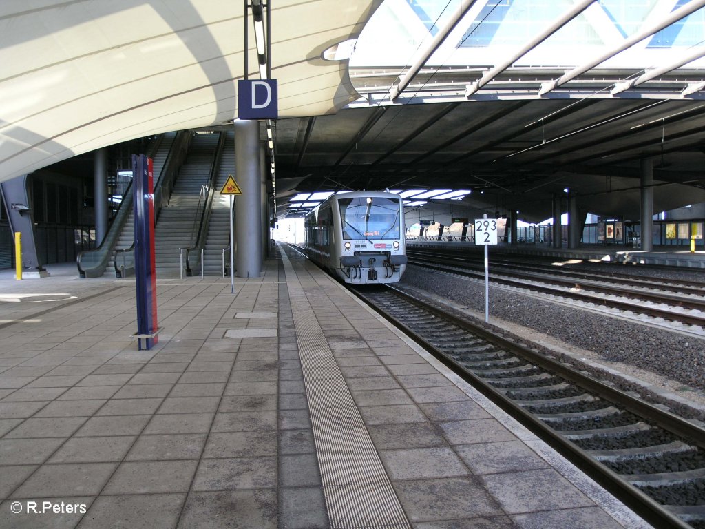
[[[343,238],[398,239],[399,200],[386,197],[338,199]]]

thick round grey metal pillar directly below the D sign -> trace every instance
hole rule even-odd
[[[235,207],[235,240],[238,253],[235,269],[238,277],[262,274],[262,205],[259,174],[259,124],[235,121],[235,181],[242,195]]]

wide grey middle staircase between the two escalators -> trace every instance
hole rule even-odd
[[[194,136],[168,205],[161,208],[154,230],[157,276],[178,275],[179,248],[195,242],[194,224],[200,222],[200,217],[196,217],[201,186],[207,185],[218,139],[218,134]]]

